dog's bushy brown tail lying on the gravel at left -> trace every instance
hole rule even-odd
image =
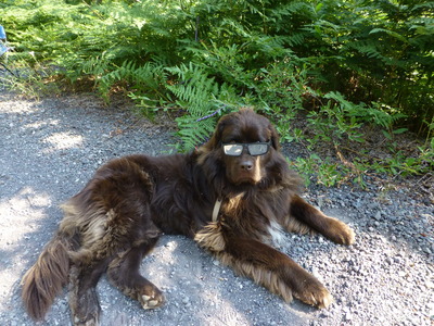
[[[58,234],[47,243],[38,261],[22,279],[22,298],[28,314],[43,319],[54,298],[67,284],[69,274],[69,239]]]

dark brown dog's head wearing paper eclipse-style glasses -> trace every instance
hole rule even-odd
[[[213,137],[199,151],[213,181],[225,177],[235,187],[277,184],[288,171],[279,152],[279,136],[265,116],[241,109],[220,118]]]

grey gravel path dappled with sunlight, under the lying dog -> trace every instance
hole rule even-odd
[[[163,153],[167,128],[90,96],[22,100],[0,93],[0,325],[34,325],[20,279],[62,218],[59,204],[108,159]],[[296,153],[288,151],[290,156]],[[280,249],[317,277],[335,303],[316,310],[235,276],[183,237],[163,237],[143,261],[167,303],[155,311],[98,286],[101,325],[434,325],[434,206],[406,189],[310,186],[305,197],[350,224],[352,247],[288,235]],[[69,325],[66,290],[40,325]]]

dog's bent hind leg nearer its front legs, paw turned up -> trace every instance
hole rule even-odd
[[[164,303],[163,293],[151,281],[140,275],[140,262],[155,246],[156,238],[136,246],[118,254],[108,265],[107,276],[111,283],[126,296],[138,300],[143,309],[154,309]]]

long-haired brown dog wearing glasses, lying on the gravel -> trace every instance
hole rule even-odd
[[[279,228],[315,230],[350,244],[354,231],[305,202],[298,185],[275,128],[248,109],[224,116],[212,139],[190,154],[113,160],[63,205],[56,235],[23,277],[23,301],[41,319],[69,281],[74,324],[95,325],[101,311],[95,286],[106,272],[144,309],[156,308],[163,294],[139,266],[165,233],[194,239],[286,301],[295,297],[328,306],[329,291],[273,249],[272,235]]]

